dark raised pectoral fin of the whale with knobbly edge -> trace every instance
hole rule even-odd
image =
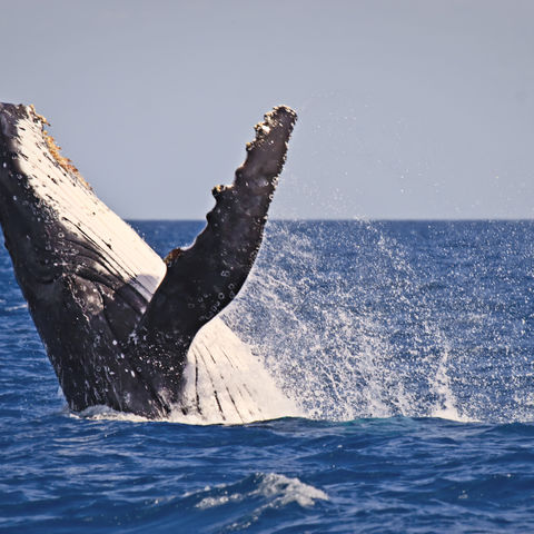
[[[136,352],[152,355],[150,365],[159,367],[168,358],[162,367],[181,368],[196,333],[245,283],[295,120],[296,113],[286,107],[265,116],[255,127],[256,139],[247,145],[247,158],[236,170],[234,184],[214,188],[216,205],[206,216],[206,228],[190,248],[167,256],[167,274],[134,335]]]

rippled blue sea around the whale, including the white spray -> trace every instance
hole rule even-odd
[[[134,222],[160,254],[199,221]],[[0,532],[534,531],[534,222],[270,222],[224,319],[309,414],[70,414],[0,255]]]

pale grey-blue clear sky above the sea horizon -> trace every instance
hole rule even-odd
[[[298,113],[274,218],[534,218],[531,0],[0,0],[33,103],[129,219],[202,219]]]

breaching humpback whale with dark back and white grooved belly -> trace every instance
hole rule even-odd
[[[214,188],[204,230],[161,259],[61,156],[33,106],[0,103],[0,224],[70,409],[161,418],[211,403],[221,421],[269,417],[243,375],[271,378],[218,314],[253,267],[295,121],[284,106],[265,115],[234,182]],[[273,390],[264,397],[283,397]]]

